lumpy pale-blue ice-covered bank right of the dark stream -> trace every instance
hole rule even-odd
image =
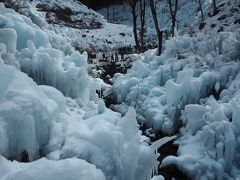
[[[174,37],[164,53],[146,52],[113,78],[116,110],[135,106],[138,120],[180,138],[176,164],[196,179],[239,176],[240,32]]]

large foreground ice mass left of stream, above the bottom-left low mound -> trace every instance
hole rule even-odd
[[[27,152],[30,161],[46,155],[57,162],[70,158],[70,163],[77,157],[101,169],[107,179],[151,175],[154,150],[142,142],[133,108],[121,119],[101,102],[81,110],[55,88],[38,86],[14,67],[2,64],[0,77],[1,155],[21,161],[23,152]],[[83,121],[85,113],[90,117]],[[57,162],[54,168],[58,168]],[[36,168],[45,167],[38,161],[33,163]],[[34,169],[29,171],[37,174]],[[23,172],[20,168],[9,179],[17,174],[30,178]]]

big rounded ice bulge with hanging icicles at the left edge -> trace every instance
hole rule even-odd
[[[52,121],[58,105],[25,74],[2,64],[0,68],[1,154],[21,160],[27,151],[29,160],[39,157],[49,141]]]

